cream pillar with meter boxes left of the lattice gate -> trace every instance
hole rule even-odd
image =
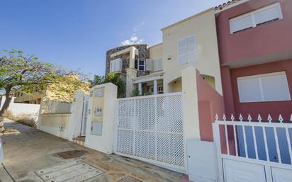
[[[111,83],[101,84],[90,89],[86,147],[106,154],[113,153],[117,92],[117,86]]]

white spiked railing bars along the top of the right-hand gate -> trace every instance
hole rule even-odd
[[[276,121],[271,115],[266,120],[261,115],[257,120],[252,120],[250,115],[247,120],[242,115],[239,120],[233,115],[230,120],[225,115],[223,120],[219,120],[218,115],[215,118],[213,136],[221,157],[291,168],[292,115],[290,121],[284,121],[281,115]]]

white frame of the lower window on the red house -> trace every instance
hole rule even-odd
[[[273,72],[273,73],[268,73],[268,74],[256,74],[256,75],[252,75],[252,76],[241,76],[241,77],[237,77],[237,89],[238,89],[238,97],[240,99],[240,103],[258,103],[258,102],[279,102],[279,101],[266,101],[266,99],[264,98],[264,90],[262,88],[262,77],[265,76],[276,76],[276,75],[285,75],[286,76],[286,81],[287,81],[287,86],[288,86],[288,94],[289,94],[289,98],[286,100],[281,100],[281,101],[291,101],[291,91],[289,89],[289,84],[288,84],[288,79],[287,79],[287,75],[286,72]],[[259,79],[259,89],[260,89],[260,94],[262,97],[262,101],[241,101],[240,98],[240,86],[238,84],[238,81],[242,80],[242,79],[253,79],[253,78],[258,78]],[[281,89],[281,88],[279,88]]]

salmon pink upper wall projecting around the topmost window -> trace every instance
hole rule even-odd
[[[280,2],[283,19],[230,34],[229,19]],[[250,0],[222,11],[216,17],[220,63],[292,50],[292,1]]]

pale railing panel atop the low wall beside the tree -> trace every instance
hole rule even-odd
[[[45,101],[42,103],[43,114],[67,114],[71,113],[72,103]]]

